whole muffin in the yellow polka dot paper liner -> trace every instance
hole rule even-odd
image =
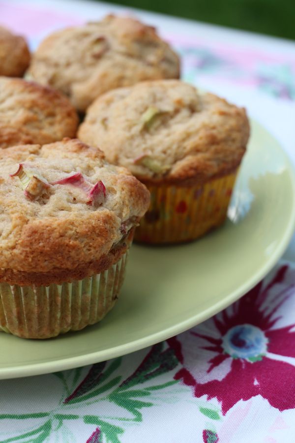
[[[135,238],[177,243],[226,219],[249,123],[243,108],[216,95],[159,80],[97,98],[78,136],[148,187],[151,205]]]

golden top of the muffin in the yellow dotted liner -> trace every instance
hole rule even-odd
[[[204,183],[238,166],[249,123],[243,108],[216,95],[159,80],[98,97],[78,136],[144,182]]]

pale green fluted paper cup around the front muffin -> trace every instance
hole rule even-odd
[[[109,269],[61,285],[0,283],[0,330],[45,339],[100,321],[115,305],[124,280],[128,250]]]

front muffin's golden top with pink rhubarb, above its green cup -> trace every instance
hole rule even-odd
[[[0,151],[0,281],[47,285],[107,269],[148,204],[130,172],[77,139]]]

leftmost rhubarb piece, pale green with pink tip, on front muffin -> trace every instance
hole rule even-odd
[[[24,163],[20,163],[18,170],[10,174],[10,177],[16,176],[20,179],[25,196],[31,200],[44,194],[50,188],[50,184],[44,177]]]

